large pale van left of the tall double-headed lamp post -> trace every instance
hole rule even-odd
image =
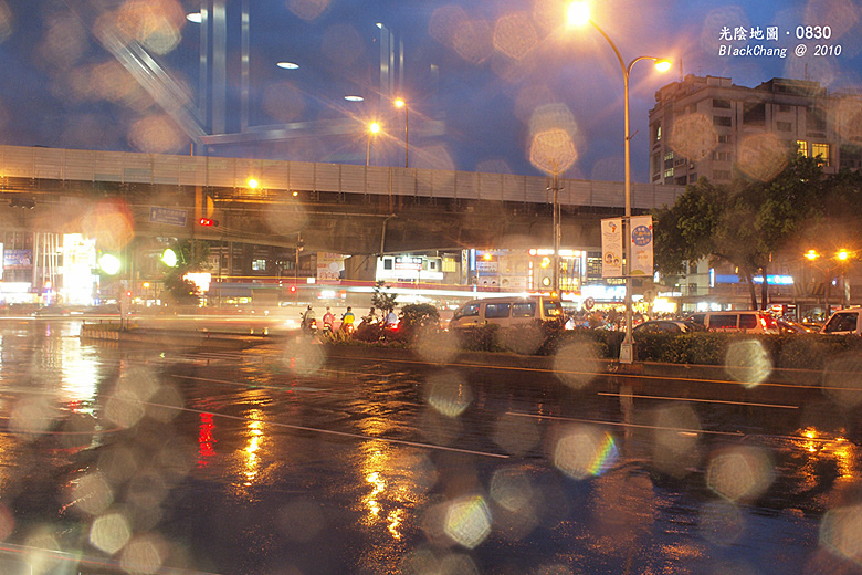
[[[559,300],[555,297],[544,295],[486,297],[471,300],[462,305],[449,322],[449,328],[464,330],[486,324],[511,327],[533,320],[559,322],[563,325],[566,315]]]

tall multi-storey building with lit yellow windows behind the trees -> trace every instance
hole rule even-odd
[[[772,79],[756,87],[687,75],[655,93],[650,176],[655,184],[722,184],[777,175],[787,151],[820,157],[826,172],[862,168],[862,96],[819,82]]]

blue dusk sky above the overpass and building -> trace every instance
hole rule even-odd
[[[239,6],[239,0],[228,2]],[[150,55],[192,101],[200,98],[200,27],[182,15],[199,2],[125,0],[108,14],[86,14],[83,0],[0,0],[0,142],[84,149],[189,153],[190,140],[96,41],[105,22],[138,27]],[[307,137],[213,155],[311,161],[365,161],[366,119],[379,119],[375,165],[403,165],[403,118],[379,96],[379,30],[404,44],[411,165],[536,175],[530,126],[551,106],[565,116],[576,158],[567,176],[622,179],[622,72],[592,28],[567,29],[556,0],[253,0],[250,2],[252,127],[307,123]],[[155,15],[154,15],[155,14]],[[102,18],[96,18],[102,17]],[[239,129],[239,17],[229,12],[229,130]],[[659,74],[645,62],[631,74],[633,178],[644,181],[646,117],[654,93],[684,74],[717,75],[755,86],[775,76],[808,77],[834,91],[862,85],[862,7],[853,0],[596,2],[593,21],[626,61],[669,56]],[[132,23],[129,23],[132,22]],[[164,29],[159,29],[164,25]],[[721,56],[722,29],[774,28],[778,40],[729,42],[786,48],[780,58]],[[797,40],[797,29],[829,29],[830,39]],[[150,30],[151,32],[151,30]],[[809,51],[796,56],[793,49]],[[814,56],[813,45],[841,46]],[[834,51],[834,48],[832,49]],[[275,66],[295,61],[298,70]],[[432,70],[439,71],[435,76]],[[343,96],[356,93],[366,102]],[[561,114],[561,115],[560,115]],[[356,134],[324,136],[315,126],[349,118]],[[441,129],[442,128],[442,129]],[[198,153],[201,150],[198,149]]]

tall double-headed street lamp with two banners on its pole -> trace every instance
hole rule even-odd
[[[572,2],[568,8],[568,22],[572,25],[584,25],[586,23],[592,24],[605,40],[608,41],[613,53],[617,55],[617,60],[620,62],[620,69],[622,70],[622,86],[623,86],[623,149],[626,161],[626,218],[624,218],[624,240],[623,240],[623,253],[626,254],[626,268],[623,269],[626,275],[626,337],[620,346],[620,362],[630,364],[634,359],[634,344],[631,336],[632,328],[632,311],[631,311],[631,150],[630,144],[632,136],[629,133],[629,75],[631,74],[632,66],[641,60],[652,60],[655,62],[655,70],[659,72],[666,72],[671,69],[671,61],[666,59],[660,59],[655,56],[638,56],[631,62],[626,64],[617,45],[610,39],[610,36],[599,28],[599,25],[590,18],[589,7],[586,2]]]

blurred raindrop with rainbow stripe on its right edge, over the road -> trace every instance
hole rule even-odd
[[[566,427],[554,442],[554,466],[574,479],[600,475],[618,457],[613,436],[595,426]]]

